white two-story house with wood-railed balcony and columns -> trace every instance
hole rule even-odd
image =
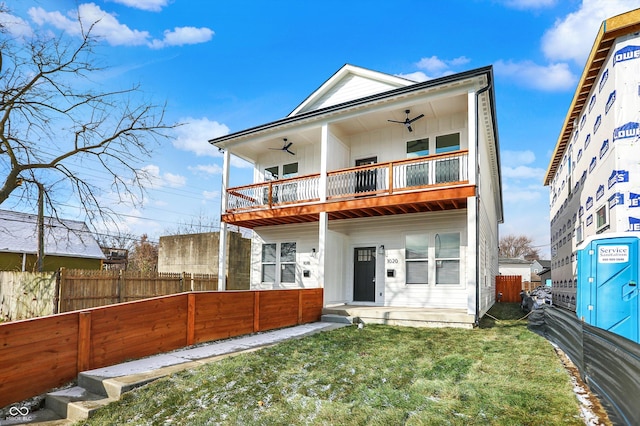
[[[345,65],[287,117],[210,142],[224,150],[223,230],[253,229],[252,289],[323,287],[325,307],[448,308],[466,324],[493,305],[491,67],[415,83]],[[228,187],[231,154],[253,184]]]

